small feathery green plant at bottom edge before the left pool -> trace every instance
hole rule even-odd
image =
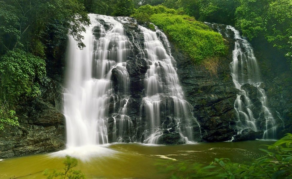
[[[80,170],[74,170],[73,168],[78,165],[78,160],[66,155],[64,160],[64,171],[57,171],[56,169],[45,170],[43,175],[47,176],[47,179],[85,179],[85,175]]]

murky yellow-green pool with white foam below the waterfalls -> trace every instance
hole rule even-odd
[[[192,143],[176,146],[141,143],[113,143],[97,148],[30,155],[0,161],[0,179],[46,178],[45,169],[63,170],[62,155],[80,157],[76,169],[91,178],[169,178],[170,174],[156,164],[161,161],[210,163],[214,158],[230,158],[233,162],[252,161],[262,155],[258,148],[274,141]]]

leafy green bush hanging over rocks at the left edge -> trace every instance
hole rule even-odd
[[[17,126],[13,110],[20,98],[40,94],[38,81],[46,76],[45,61],[17,49],[0,57],[0,129],[4,125]]]

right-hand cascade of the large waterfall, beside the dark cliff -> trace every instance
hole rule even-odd
[[[170,54],[169,42],[160,30],[156,29],[154,32],[145,27],[139,28],[144,36],[149,66],[146,72],[146,96],[143,98],[143,107],[150,121],[150,130],[145,131],[144,142],[158,143],[159,137],[163,135],[161,123],[166,122],[167,115],[173,116],[173,121],[170,122],[175,126],[173,131],[179,132],[183,141],[192,141],[193,129],[190,121],[193,118],[190,111],[192,108],[184,99],[184,93],[179,85],[176,69],[172,64],[175,61]],[[167,46],[168,53],[163,43]],[[170,107],[171,103],[173,103],[173,108]],[[196,121],[195,118],[193,119]],[[196,123],[199,126],[199,123]],[[167,128],[169,126],[166,126]],[[170,131],[170,129],[167,130]]]

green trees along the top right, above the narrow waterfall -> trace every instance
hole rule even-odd
[[[152,0],[199,21],[235,25],[252,40],[266,39],[292,63],[292,0]],[[292,68],[292,65],[291,65]]]

